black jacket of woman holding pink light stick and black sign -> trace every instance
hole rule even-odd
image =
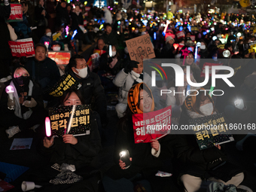
[[[50,148],[44,148],[44,145],[41,146],[42,154],[50,156],[51,163],[58,163],[59,165],[68,163],[75,165],[76,169],[90,166],[93,158],[99,154],[102,147],[94,115],[90,117],[90,124],[90,135],[77,136],[78,143],[76,145],[66,144],[62,141],[62,138],[55,138],[53,146]]]

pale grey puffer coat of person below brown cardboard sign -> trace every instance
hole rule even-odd
[[[136,81],[136,77],[129,72],[128,74],[124,72],[122,69],[113,79],[113,84],[119,88],[118,101],[127,104],[127,96],[131,87],[133,87],[134,81]],[[151,77],[147,73],[143,73],[143,82],[148,85],[153,93],[153,89],[151,87]]]

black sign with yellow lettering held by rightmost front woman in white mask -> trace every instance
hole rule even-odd
[[[233,136],[229,134],[226,120],[222,114],[190,119],[189,123],[194,125],[194,133],[200,150],[234,140]]]

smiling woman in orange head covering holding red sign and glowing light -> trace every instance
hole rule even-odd
[[[108,170],[102,182],[106,192],[133,191],[133,185],[140,184],[144,180],[147,191],[178,191],[171,177],[155,176],[158,170],[170,172],[163,166],[163,161],[158,160],[163,145],[172,145],[175,139],[170,141],[169,136],[159,140],[152,139],[149,143],[135,144],[133,134],[133,114],[142,114],[154,111],[154,98],[149,87],[144,84],[134,85],[127,98],[125,115],[118,123],[117,139],[115,143],[114,161],[119,165],[112,166]],[[160,144],[161,143],[161,144]],[[130,166],[123,163],[120,157],[124,151],[130,154]],[[169,160],[170,156],[167,157]],[[145,179],[150,181],[151,187],[145,184]],[[134,181],[136,180],[136,181]]]

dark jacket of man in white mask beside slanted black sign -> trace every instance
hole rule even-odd
[[[99,76],[96,75],[96,73],[90,72],[89,68],[87,68],[87,70],[88,75],[86,78],[78,78],[72,69],[69,68],[69,65],[66,66],[65,71],[81,84],[79,90],[84,97],[85,104],[92,104],[93,108],[96,108],[95,111],[99,114],[100,119],[105,121],[107,120],[107,99],[105,97],[104,89]]]

